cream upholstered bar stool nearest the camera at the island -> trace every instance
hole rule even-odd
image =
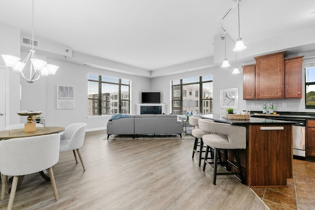
[[[205,121],[203,119],[199,120],[199,127],[202,130],[212,132],[211,135],[204,135],[202,137],[204,144],[207,145],[206,147],[206,154],[203,163],[203,171],[205,171],[206,164],[213,164],[214,173],[213,173],[213,184],[216,184],[217,175],[239,175],[240,178],[236,177],[242,183],[244,183],[243,173],[242,173],[242,166],[239,156],[239,150],[246,149],[246,127],[237,126],[237,125],[230,125],[225,123],[218,123],[218,122],[210,122]],[[208,158],[208,153],[213,148],[214,150],[214,157]],[[220,150],[234,150],[236,164],[228,159],[227,152],[225,152],[225,164],[226,169],[229,172],[226,173],[218,173],[218,163],[222,163],[221,161],[218,162],[219,152]],[[213,159],[213,162],[208,161],[208,159]],[[231,172],[229,170],[229,164],[238,169],[238,172]]]

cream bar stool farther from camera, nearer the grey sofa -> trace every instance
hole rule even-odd
[[[194,117],[194,116],[189,117],[189,124],[195,126],[195,129],[193,129],[191,132],[192,136],[195,137],[195,141],[194,141],[193,149],[192,149],[192,158],[193,158],[194,154],[196,153],[199,156],[198,165],[200,166],[201,165],[201,159],[204,159],[202,157],[202,152],[206,151],[206,150],[203,150],[204,146],[203,146],[202,136],[207,135],[207,134],[211,134],[211,133],[203,131],[199,128],[199,126],[198,126],[198,120],[199,119],[201,119],[201,118],[200,117]],[[209,120],[209,121],[213,121],[213,120]],[[199,150],[197,150],[198,146],[199,146]]]

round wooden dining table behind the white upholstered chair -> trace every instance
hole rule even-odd
[[[15,138],[24,138],[24,137],[32,137],[32,136],[42,136],[42,135],[49,135],[60,133],[64,131],[64,127],[36,127],[36,131],[32,132],[25,132],[24,128],[19,129],[11,129],[11,130],[3,130],[0,131],[0,140],[7,140],[7,139],[15,139]],[[39,172],[40,176],[50,181],[49,173],[47,170]],[[18,186],[22,183],[24,176],[21,176],[18,181]]]

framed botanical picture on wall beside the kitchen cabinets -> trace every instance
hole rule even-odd
[[[220,89],[220,108],[238,108],[238,88]]]

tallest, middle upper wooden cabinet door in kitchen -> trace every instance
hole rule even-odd
[[[256,99],[284,98],[284,53],[255,57]]]

